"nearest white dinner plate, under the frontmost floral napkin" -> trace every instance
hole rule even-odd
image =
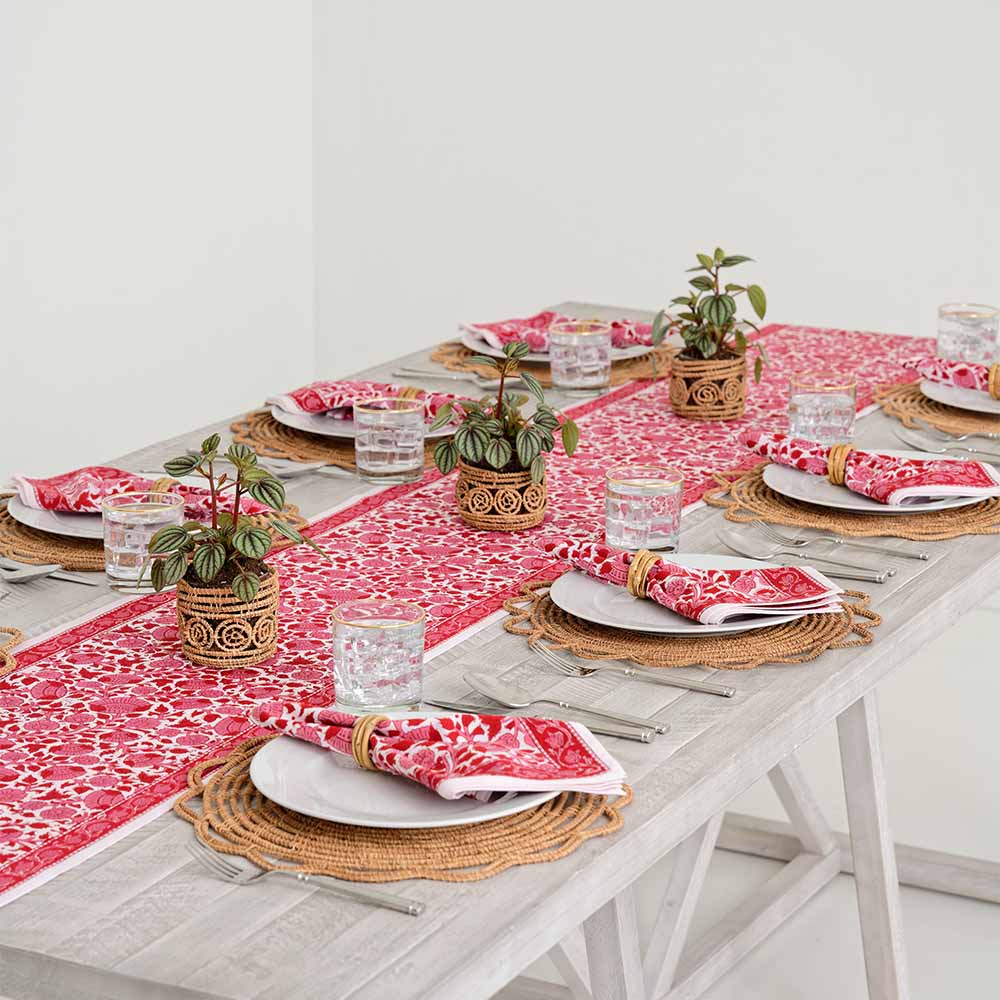
[[[442,714],[420,713],[421,718]],[[272,802],[305,816],[385,829],[483,823],[533,809],[559,794],[524,792],[496,802],[467,795],[443,799],[409,778],[362,770],[350,757],[288,736],[257,751],[250,780]]]

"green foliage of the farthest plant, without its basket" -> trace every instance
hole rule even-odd
[[[747,330],[757,330],[748,319],[736,316],[736,300],[746,295],[758,319],[767,311],[767,297],[760,285],[739,285],[734,282],[723,284],[721,272],[752,260],[742,254],[727,254],[721,247],[715,253],[697,254],[698,266],[689,267],[689,272],[698,272],[690,279],[691,292],[671,299],[671,305],[681,306],[674,317],[661,309],[653,320],[653,344],[659,345],[671,330],[677,330],[684,340],[681,357],[724,358],[727,353],[744,354],[747,347],[757,351],[754,360],[754,380],[759,382],[764,365],[768,361],[767,351],[760,340],[748,344]],[[759,332],[759,331],[758,331]]]

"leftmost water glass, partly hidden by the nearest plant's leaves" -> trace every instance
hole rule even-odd
[[[148,593],[153,589],[153,560],[165,558],[149,554],[149,540],[160,528],[184,521],[184,498],[176,493],[119,493],[102,501],[101,518],[104,571],[112,589]]]

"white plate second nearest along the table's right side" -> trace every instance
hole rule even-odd
[[[738,556],[672,554],[671,562],[690,569],[764,569],[780,563],[761,562],[759,559],[741,559]],[[632,632],[655,632],[658,635],[716,635],[724,632],[747,632],[754,628],[783,625],[802,618],[806,612],[796,611],[787,615],[746,615],[723,625],[702,625],[691,618],[678,615],[654,601],[633,597],[624,587],[613,587],[595,580],[586,573],[571,570],[564,573],[549,588],[552,603],[563,611],[584,621],[612,628],[625,628]]]

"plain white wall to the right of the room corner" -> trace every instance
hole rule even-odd
[[[317,2],[317,334],[339,374],[695,250],[777,320],[1000,299],[1000,5]],[[934,13],[928,13],[934,11]]]

